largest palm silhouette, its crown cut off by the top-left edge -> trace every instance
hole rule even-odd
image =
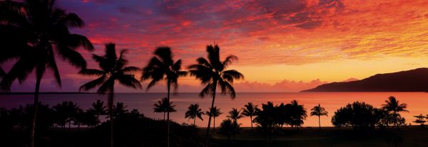
[[[58,86],[61,78],[56,66],[55,54],[60,60],[85,69],[86,61],[76,51],[79,47],[93,50],[85,36],[71,34],[70,28],[83,28],[84,23],[76,13],[66,13],[58,8],[55,0],[1,1],[0,21],[2,27],[0,64],[17,60],[1,80],[1,90],[9,92],[14,80],[21,84],[36,70],[36,89],[34,94],[34,116],[30,126],[30,146],[34,147],[34,128],[36,126],[39,89],[46,70],[50,70]]]

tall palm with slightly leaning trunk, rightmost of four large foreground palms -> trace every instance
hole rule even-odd
[[[233,60],[238,60],[238,57],[235,55],[228,55],[228,57],[221,62],[220,61],[220,48],[218,45],[207,45],[208,60],[203,57],[198,58],[196,61],[198,64],[190,65],[188,67],[190,75],[195,76],[196,79],[199,79],[203,84],[208,84],[202,92],[200,92],[200,97],[205,97],[207,94],[213,95],[213,102],[211,103],[211,108],[214,107],[215,101],[215,90],[217,87],[220,87],[222,94],[230,94],[231,99],[235,99],[235,89],[232,85],[233,80],[240,80],[244,78],[244,75],[236,70],[226,70]],[[208,146],[208,135],[210,133],[210,124],[211,116],[208,120],[208,129],[207,129],[207,142]]]

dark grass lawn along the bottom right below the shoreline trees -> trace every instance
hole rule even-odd
[[[391,131],[404,136],[404,143],[399,146],[427,146],[428,130],[419,127],[414,128],[388,128],[386,132],[379,129],[375,131],[354,131],[352,129],[325,128],[318,131],[312,129],[282,129],[284,134],[273,134],[272,141],[267,141],[263,134],[251,129],[243,129],[243,134],[235,136],[234,143],[227,143],[227,136],[217,134],[218,130],[210,135],[218,140],[220,146],[388,146],[385,142],[386,132]],[[202,129],[205,134],[206,129]],[[233,140],[233,136],[231,137]]]

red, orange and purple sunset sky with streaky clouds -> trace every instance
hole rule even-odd
[[[104,44],[129,50],[130,66],[144,67],[158,46],[169,46],[183,70],[205,57],[206,45],[218,44],[220,58],[233,54],[229,69],[245,80],[237,92],[299,92],[330,82],[362,80],[378,73],[425,67],[428,1],[425,0],[61,0],[57,6],[76,13],[86,26],[71,33],[88,37],[96,50],[78,50],[88,68],[98,65]],[[41,92],[77,92],[96,77],[78,75],[58,61],[62,88],[48,72]],[[7,71],[11,63],[2,65]],[[34,92],[34,75],[11,92]],[[194,77],[183,77],[178,92],[200,92]],[[161,84],[143,90],[165,92]],[[94,91],[90,91],[94,92]]]

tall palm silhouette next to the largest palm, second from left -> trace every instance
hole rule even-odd
[[[106,94],[109,92],[108,97],[108,109],[113,109],[113,94],[114,94],[114,82],[117,80],[119,84],[131,87],[133,89],[142,89],[141,83],[136,80],[133,72],[137,72],[140,69],[138,67],[132,67],[126,65],[128,64],[128,60],[125,58],[125,53],[128,50],[121,50],[121,55],[119,58],[116,56],[116,44],[108,43],[106,44],[106,55],[92,55],[93,60],[98,62],[101,70],[96,69],[85,69],[78,72],[81,75],[89,75],[89,76],[100,76],[96,80],[92,80],[91,82],[82,85],[79,91],[88,91],[89,89],[93,89],[98,87],[97,93]],[[111,146],[113,147],[113,111],[110,111],[110,125],[111,125]]]

